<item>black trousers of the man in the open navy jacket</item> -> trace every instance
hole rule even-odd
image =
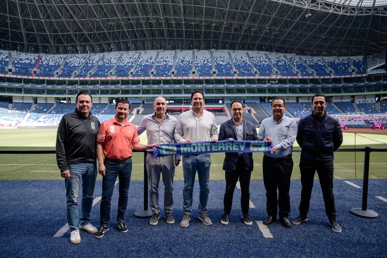
[[[226,171],[226,192],[224,193],[223,204],[224,213],[230,214],[233,205],[233,196],[236,182],[239,178],[241,186],[241,210],[242,214],[248,214],[250,204],[250,176],[251,172],[246,172],[243,156],[238,157],[238,163],[234,171]]]

